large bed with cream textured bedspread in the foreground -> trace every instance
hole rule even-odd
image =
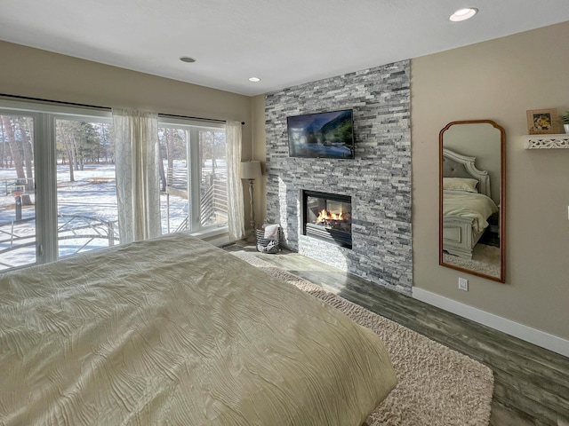
[[[354,425],[380,338],[188,233],[0,276],[0,424]]]

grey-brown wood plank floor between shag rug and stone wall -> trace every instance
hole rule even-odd
[[[225,247],[260,256],[369,311],[397,321],[493,369],[492,426],[569,426],[569,358],[463,319],[412,297],[283,250],[260,254],[238,241]]]

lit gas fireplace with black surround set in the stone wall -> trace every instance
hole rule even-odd
[[[302,191],[303,234],[352,248],[351,197]]]

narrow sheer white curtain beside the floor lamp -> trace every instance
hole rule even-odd
[[[245,235],[243,183],[241,182],[241,122],[227,122],[228,233],[230,240]]]

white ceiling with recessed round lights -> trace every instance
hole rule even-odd
[[[569,20],[567,5],[567,0],[2,0],[0,39],[253,96],[563,22]],[[479,10],[474,18],[448,19],[467,6]],[[181,56],[196,62],[181,62]],[[252,76],[260,82],[249,82]]]

